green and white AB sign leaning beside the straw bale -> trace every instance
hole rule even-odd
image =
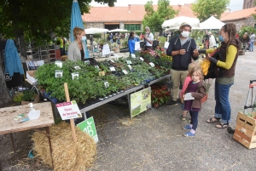
[[[95,142],[99,141],[93,117],[86,119],[84,122],[79,123],[77,126],[82,131],[84,131],[84,133],[89,134],[95,140]]]

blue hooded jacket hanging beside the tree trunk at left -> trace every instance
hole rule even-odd
[[[9,73],[10,77],[13,77],[15,72],[20,72],[20,75],[24,74],[20,55],[12,39],[9,39],[5,45],[4,56],[5,73]]]

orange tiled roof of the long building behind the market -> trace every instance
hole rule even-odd
[[[154,11],[157,5],[154,5]],[[177,16],[195,17],[192,10],[187,5],[172,5],[172,9],[179,10]],[[82,15],[85,22],[141,22],[146,14],[144,5],[131,4],[129,7],[91,7],[90,14]]]

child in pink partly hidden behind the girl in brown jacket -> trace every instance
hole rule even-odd
[[[184,81],[184,83],[183,83],[183,89],[182,89],[181,92],[180,92],[180,99],[181,99],[181,100],[183,99],[183,94],[185,93],[185,90],[187,89],[187,87],[188,87],[188,85],[189,85],[189,82],[191,82],[191,80],[192,80],[192,74],[193,74],[192,70],[193,70],[193,68],[195,68],[196,66],[199,67],[199,65],[198,65],[197,63],[195,63],[195,62],[189,64],[189,68],[188,68],[189,73],[188,73],[188,76],[185,78],[185,81]],[[183,102],[183,100],[182,100],[182,110],[183,110],[183,114],[180,116],[180,118],[181,118],[183,121],[185,121],[185,120],[186,120],[187,111],[184,110],[184,102]]]

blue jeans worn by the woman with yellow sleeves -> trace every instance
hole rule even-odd
[[[230,87],[234,83],[228,85],[220,84],[215,81],[215,116],[216,118],[221,118],[221,123],[230,123]]]

